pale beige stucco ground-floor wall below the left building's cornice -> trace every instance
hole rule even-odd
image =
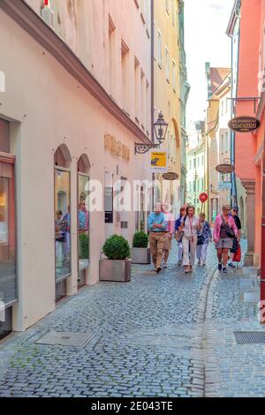
[[[0,117],[11,121],[11,152],[17,156],[19,303],[14,329],[24,329],[49,313],[55,304],[54,153],[65,144],[72,156],[72,276],[68,294],[77,290],[77,161],[83,153],[90,177],[104,180],[113,172],[132,180],[149,177],[143,159],[134,161],[134,136],[102,109],[42,47],[0,11],[1,70],[6,93]],[[131,162],[103,150],[110,133],[130,148]],[[118,165],[118,175],[117,175]],[[134,214],[128,214],[132,240]],[[119,230],[115,226],[115,230]],[[104,213],[91,214],[89,283],[98,280],[98,260],[105,238]]]

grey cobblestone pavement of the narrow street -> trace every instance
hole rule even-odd
[[[242,302],[254,273],[217,274],[213,247],[193,275],[176,262],[175,246],[160,275],[134,266],[131,283],[87,287],[0,342],[0,396],[264,394],[265,345],[233,337],[262,329],[255,305]],[[83,348],[35,343],[49,330],[95,336]]]

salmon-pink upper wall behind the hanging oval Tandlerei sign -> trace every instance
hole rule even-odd
[[[241,6],[238,97],[259,95],[260,27],[261,0],[244,0]],[[236,113],[237,117],[254,117],[254,102],[238,101]],[[236,173],[241,179],[255,178],[255,141],[252,133],[236,134]]]

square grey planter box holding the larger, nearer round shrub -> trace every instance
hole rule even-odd
[[[128,283],[131,281],[132,260],[100,260],[99,280]]]

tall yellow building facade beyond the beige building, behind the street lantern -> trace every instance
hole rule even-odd
[[[154,119],[159,111],[169,124],[163,150],[168,152],[168,171],[178,179],[160,181],[155,200],[163,200],[177,213],[180,207],[181,108],[179,83],[179,2],[154,0]]]

